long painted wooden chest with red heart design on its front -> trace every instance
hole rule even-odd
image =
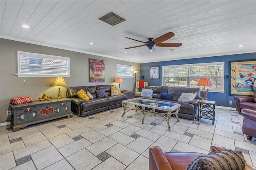
[[[35,123],[60,117],[69,118],[71,115],[71,99],[61,98],[11,105],[11,115],[14,132]]]

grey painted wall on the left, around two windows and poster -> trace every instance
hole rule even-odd
[[[6,111],[10,110],[9,102],[13,98],[29,96],[36,101],[38,100],[38,97],[42,97],[43,93],[48,93],[48,96],[52,96],[54,98],[58,97],[58,86],[52,86],[56,77],[17,77],[14,75],[18,73],[17,51],[70,57],[70,74],[72,76],[64,77],[68,86],[114,84],[118,87],[118,83],[114,83],[116,79],[116,64],[133,65],[134,70],[140,70],[139,63],[78,53],[42,45],[6,40],[2,38],[0,39],[0,49],[0,123],[10,121],[10,117],[6,118]],[[89,82],[90,58],[105,60],[104,83]],[[137,73],[136,80],[138,80],[139,77],[140,74]],[[123,83],[120,85],[121,90],[134,89],[134,78],[122,78],[122,80]],[[61,87],[60,90],[61,96],[65,97],[66,87]]]

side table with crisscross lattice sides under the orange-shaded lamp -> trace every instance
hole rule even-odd
[[[214,125],[215,101],[198,102],[197,121],[200,118],[212,120],[212,125]]]

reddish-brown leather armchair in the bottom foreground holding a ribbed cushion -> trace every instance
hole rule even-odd
[[[212,146],[211,152],[225,150],[222,146]],[[149,148],[149,170],[186,170],[188,164],[198,156],[205,154],[196,152],[162,152],[159,146]],[[245,162],[245,169],[252,169]]]

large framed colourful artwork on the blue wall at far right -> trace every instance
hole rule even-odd
[[[253,96],[256,90],[256,60],[230,61],[229,95]]]

